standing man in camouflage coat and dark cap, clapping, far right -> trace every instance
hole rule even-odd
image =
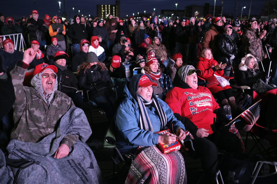
[[[245,55],[252,54],[257,61],[263,61],[266,55],[263,50],[262,41],[266,39],[266,30],[262,32],[257,31],[257,19],[254,17],[250,18],[248,22],[248,26],[245,27],[242,34],[242,49],[244,49]]]

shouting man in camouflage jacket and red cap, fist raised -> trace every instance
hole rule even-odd
[[[53,65],[43,63],[36,66],[32,86],[23,86],[27,68],[35,55],[32,48],[27,49],[23,60],[11,72],[16,96],[13,105],[15,127],[11,139],[24,142],[38,142],[54,132],[61,117],[74,106],[71,98],[57,90],[57,68]],[[78,138],[76,134],[65,136],[55,158],[67,156]]]

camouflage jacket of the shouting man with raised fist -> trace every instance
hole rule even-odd
[[[16,96],[13,105],[15,127],[11,139],[38,142],[57,129],[61,117],[74,107],[74,103],[70,97],[56,90],[51,105],[46,104],[37,90],[23,86],[28,65],[23,62],[20,64],[22,67],[16,66],[11,72]],[[78,138],[78,135],[70,134],[65,136],[61,143],[72,147]]]

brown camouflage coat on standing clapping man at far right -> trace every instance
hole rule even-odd
[[[263,50],[262,40],[256,30],[248,27],[245,28],[242,34],[242,47],[245,55],[252,54],[257,61],[263,61],[265,51]]]

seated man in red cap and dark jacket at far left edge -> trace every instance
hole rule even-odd
[[[13,41],[7,38],[3,41],[3,49],[0,49],[0,57],[2,58],[3,70],[9,72],[18,60],[22,60],[23,52],[14,50]]]

